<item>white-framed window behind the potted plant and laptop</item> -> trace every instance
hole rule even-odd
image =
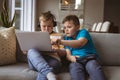
[[[15,28],[35,31],[35,0],[9,0],[11,16],[16,12]]]

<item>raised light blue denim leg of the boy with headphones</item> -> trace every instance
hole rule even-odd
[[[47,75],[49,72],[53,70],[52,67],[48,65],[45,59],[42,57],[39,51],[36,49],[30,49],[27,54],[29,62],[33,65],[33,67],[43,75]]]

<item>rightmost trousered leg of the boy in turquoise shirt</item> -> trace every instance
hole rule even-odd
[[[90,80],[106,80],[102,68],[96,60],[90,60],[86,63],[86,71]]]

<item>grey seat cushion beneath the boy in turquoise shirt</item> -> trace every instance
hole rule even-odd
[[[103,71],[107,80],[120,80],[120,66],[103,66]],[[69,72],[60,73],[59,79],[70,80]]]

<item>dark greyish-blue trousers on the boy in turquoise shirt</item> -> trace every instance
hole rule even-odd
[[[106,80],[100,64],[96,60],[77,61],[69,65],[71,80],[86,80],[86,72],[90,80]]]

